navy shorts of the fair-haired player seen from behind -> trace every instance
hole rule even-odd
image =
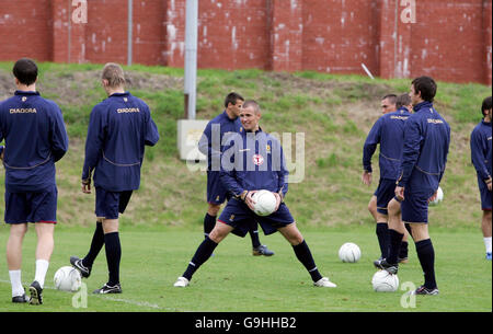
[[[133,191],[108,192],[96,187],[95,215],[98,218],[118,219],[130,201]]]

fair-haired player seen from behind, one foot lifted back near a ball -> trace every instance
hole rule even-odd
[[[96,229],[85,257],[71,256],[70,263],[82,277],[89,277],[104,244],[110,278],[94,293],[121,293],[118,214],[125,211],[133,191],[139,188],[145,146],[154,146],[159,134],[148,105],[125,91],[119,65],[104,66],[102,84],[108,97],[91,112],[82,170],[85,194],[91,193],[94,173]]]

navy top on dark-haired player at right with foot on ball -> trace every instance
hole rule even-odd
[[[399,186],[411,192],[438,188],[447,163],[450,126],[435,111],[432,102],[414,106],[404,126]]]

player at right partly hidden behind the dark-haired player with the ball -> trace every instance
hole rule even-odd
[[[385,101],[385,100],[383,100]],[[402,156],[402,147],[404,140],[404,122],[411,115],[412,110],[411,97],[409,94],[400,95],[395,100],[397,111],[385,113],[383,116],[372,126],[363,147],[363,168],[362,180],[366,185],[371,184],[371,157],[380,145],[379,166],[380,180],[378,188],[375,192],[368,209],[371,212],[372,203],[376,201],[376,234],[380,245],[380,258],[386,258],[389,251],[388,220],[389,215],[387,206],[394,196],[395,181],[399,177],[399,166]],[[408,233],[399,254],[399,263],[408,261]]]

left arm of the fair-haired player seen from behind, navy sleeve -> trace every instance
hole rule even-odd
[[[82,191],[91,192],[92,171],[101,157],[104,140],[104,120],[102,113],[93,108],[89,118],[88,137],[85,139],[85,159],[82,169]]]

